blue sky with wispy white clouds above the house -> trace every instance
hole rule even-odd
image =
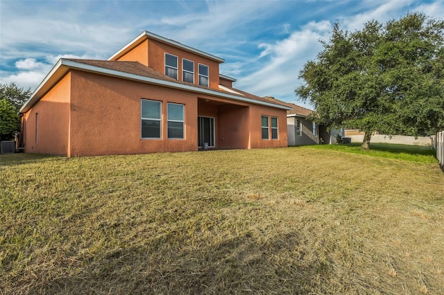
[[[34,90],[60,57],[106,60],[148,30],[224,58],[236,88],[304,105],[298,73],[335,21],[359,30],[414,11],[442,18],[444,1],[0,0],[0,82]]]

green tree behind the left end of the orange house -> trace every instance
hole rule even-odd
[[[0,84],[0,141],[14,139],[20,131],[20,108],[31,96],[31,90],[17,87],[13,82]]]

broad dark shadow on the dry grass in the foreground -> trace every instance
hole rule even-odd
[[[267,242],[247,235],[198,248],[164,241],[116,249],[82,261],[81,278],[68,274],[36,290],[67,294],[106,294],[108,290],[127,294],[331,292],[325,282],[336,278],[332,262],[310,256],[308,249],[296,251],[300,244],[297,233],[287,233]],[[368,285],[363,282],[355,288],[365,290]]]

